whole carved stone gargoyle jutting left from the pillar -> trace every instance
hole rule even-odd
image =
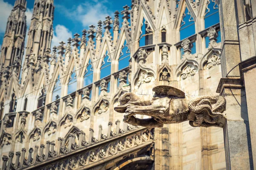
[[[185,96],[183,91],[164,85],[153,91],[153,96],[125,93],[114,109],[125,113],[124,122],[134,126],[163,127],[163,124],[185,121],[193,127],[225,125],[226,100],[223,96]],[[151,116],[151,119],[139,119],[134,116],[136,114]]]

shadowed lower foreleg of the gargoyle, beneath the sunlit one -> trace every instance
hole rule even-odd
[[[157,122],[155,119],[139,119],[134,116],[125,116],[125,123],[134,126],[143,126],[143,127],[163,127],[163,123]]]

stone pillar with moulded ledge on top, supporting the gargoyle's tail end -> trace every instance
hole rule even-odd
[[[247,102],[240,79],[222,78],[217,93],[227,101],[223,129],[227,170],[253,169]]]

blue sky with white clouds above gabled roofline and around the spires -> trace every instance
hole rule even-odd
[[[0,0],[0,46],[3,43],[3,36],[6,29],[6,22],[15,0]],[[27,0],[27,25],[29,28],[32,17],[34,0]],[[94,24],[97,26],[99,20],[104,21],[114,12],[123,10],[123,6],[131,6],[131,0],[55,0],[54,12],[54,37],[52,45],[58,42],[67,42],[67,39],[75,33],[82,34],[83,29]],[[122,22],[120,14],[120,22]],[[26,36],[27,37],[27,36]]]

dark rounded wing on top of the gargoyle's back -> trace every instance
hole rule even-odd
[[[177,88],[167,85],[159,85],[153,88],[156,96],[177,96],[180,98],[185,97],[185,93]]]

